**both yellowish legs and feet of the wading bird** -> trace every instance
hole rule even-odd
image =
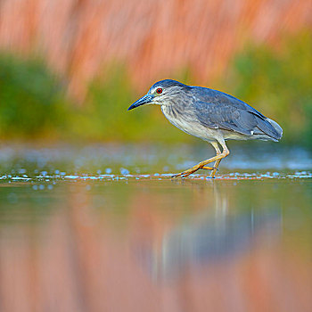
[[[213,161],[216,161],[216,165],[214,168],[212,168],[212,172],[211,172],[211,175],[210,177],[215,177],[216,175],[216,171],[218,169],[218,165],[220,163],[220,161],[225,158],[230,152],[229,150],[227,149],[227,146],[226,146],[226,143],[225,141],[221,141],[219,142],[222,147],[223,147],[223,152],[220,152],[219,148],[218,148],[218,143],[213,143],[213,147],[216,149],[216,152],[217,152],[217,155],[215,157],[211,157],[209,158],[209,160],[203,160],[201,161],[199,164],[197,164],[196,166],[192,167],[192,168],[189,168],[183,172],[180,172],[180,173],[177,173],[177,175],[174,175],[172,177],[187,177],[189,175],[192,175],[195,171],[197,171],[198,169],[201,169],[201,168],[210,168],[210,167],[206,167],[207,164],[209,164],[210,162],[213,162]],[[216,167],[217,166],[217,167]],[[214,174],[213,174],[214,172]],[[212,176],[213,174],[213,176]]]

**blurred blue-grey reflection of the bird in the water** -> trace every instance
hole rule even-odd
[[[252,252],[257,239],[275,242],[282,230],[280,208],[255,211],[231,207],[225,193],[213,185],[214,204],[197,212],[164,234],[160,245],[145,254],[152,279],[168,281],[192,267],[214,266],[234,261]],[[146,264],[146,263],[145,263]]]

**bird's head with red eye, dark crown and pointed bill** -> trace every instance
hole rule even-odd
[[[133,103],[127,111],[133,110],[144,104],[167,105],[169,103],[174,103],[177,95],[187,93],[188,88],[189,86],[176,80],[166,79],[158,81],[151,86],[147,94]]]

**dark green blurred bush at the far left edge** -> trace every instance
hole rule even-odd
[[[37,59],[0,57],[0,135],[29,138],[55,135],[65,124],[62,86]]]

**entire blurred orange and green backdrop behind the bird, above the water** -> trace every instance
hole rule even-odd
[[[0,138],[198,142],[159,108],[163,78],[239,97],[312,146],[310,0],[2,0]]]

